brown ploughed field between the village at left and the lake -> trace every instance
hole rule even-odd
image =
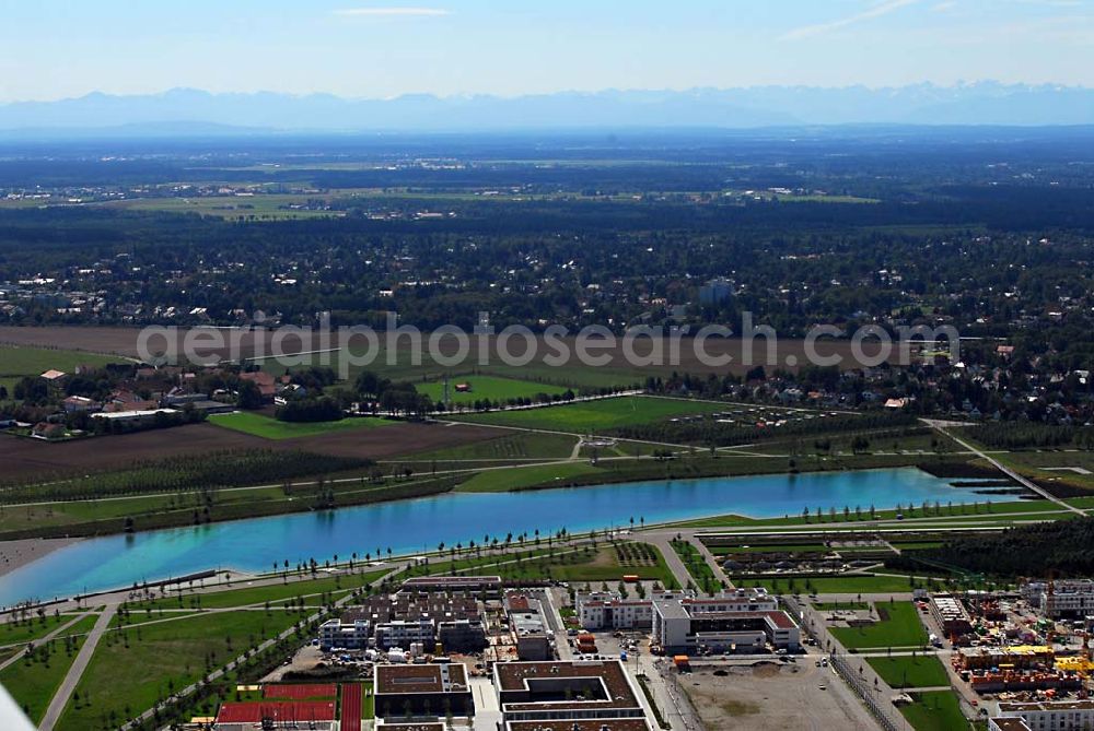
[[[263,439],[225,429],[214,424],[191,424],[167,429],[73,441],[46,443],[39,439],[0,435],[0,465],[3,480],[47,480],[147,463],[164,457],[193,456],[200,459],[226,449],[303,449],[335,457],[383,459],[408,451],[427,451],[494,439],[499,429],[472,425],[393,424],[377,429],[347,429],[299,439]]]

